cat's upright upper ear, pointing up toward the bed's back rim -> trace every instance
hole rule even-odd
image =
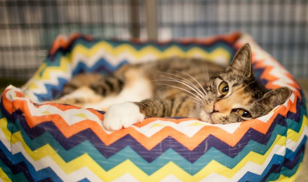
[[[240,50],[237,51],[233,57],[232,63],[228,66],[228,69],[237,70],[241,75],[251,76],[253,75],[251,66],[251,48],[249,44],[243,45]]]

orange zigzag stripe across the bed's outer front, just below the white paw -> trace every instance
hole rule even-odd
[[[294,103],[293,103],[294,104]],[[290,107],[291,102],[289,103],[288,107]],[[146,137],[145,135],[139,133],[134,128],[127,128],[124,130],[116,131],[108,135],[104,132],[104,130],[99,126],[99,124],[95,121],[85,119],[81,122],[75,123],[69,126],[66,121],[58,114],[50,114],[45,116],[31,116],[29,108],[27,107],[26,101],[21,99],[16,99],[13,101],[14,110],[18,108],[22,110],[25,114],[26,121],[28,122],[30,127],[36,126],[39,123],[46,122],[46,121],[53,121],[54,124],[59,128],[59,130],[63,133],[65,137],[71,137],[72,135],[90,128],[99,138],[102,140],[106,145],[110,145],[111,143],[117,141],[119,138],[125,136],[126,134],[130,134],[134,137],[140,144],[142,144],[145,148],[152,149],[154,146],[160,143],[164,138],[171,136],[177,141],[179,141],[182,145],[187,147],[190,150],[193,150],[197,147],[209,134],[214,135],[215,137],[219,138],[220,140],[224,141],[225,143],[234,146],[236,143],[242,138],[242,136],[249,130],[249,128],[253,128],[263,134],[267,132],[270,125],[274,121],[274,118],[277,114],[286,115],[287,108],[285,106],[280,106],[277,110],[274,111],[274,115],[270,118],[270,121],[264,123],[257,119],[253,119],[250,121],[242,122],[241,126],[233,133],[229,134],[225,130],[213,125],[213,126],[204,126],[197,134],[193,137],[188,137],[185,134],[175,130],[172,127],[164,127],[162,130],[157,132],[151,137]],[[78,108],[78,107],[77,107]],[[13,111],[14,111],[13,110]],[[99,112],[88,109],[92,113],[98,115],[100,118],[103,118],[103,115]],[[183,122],[190,120],[189,118],[185,119],[170,119],[170,118],[159,118],[163,121],[170,121],[170,122]],[[137,124],[137,127],[144,126],[149,122],[155,121],[157,118],[148,118],[145,119],[144,122]]]

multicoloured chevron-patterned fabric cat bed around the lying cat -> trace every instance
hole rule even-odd
[[[104,112],[44,103],[79,72],[108,74],[123,64],[170,56],[229,64],[245,43],[268,89],[292,95],[272,112],[226,125],[195,118],[146,118],[120,131],[102,127]],[[2,181],[294,181],[307,140],[307,108],[295,79],[245,33],[169,42],[59,36],[22,88],[0,104]]]

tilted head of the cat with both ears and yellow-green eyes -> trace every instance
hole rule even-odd
[[[203,121],[225,124],[257,118],[290,97],[290,88],[268,91],[254,77],[251,55],[250,46],[243,45],[230,66],[210,78],[200,113]]]

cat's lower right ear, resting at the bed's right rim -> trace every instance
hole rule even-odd
[[[290,95],[291,89],[289,87],[280,87],[264,94],[264,103],[274,108],[289,99]]]

